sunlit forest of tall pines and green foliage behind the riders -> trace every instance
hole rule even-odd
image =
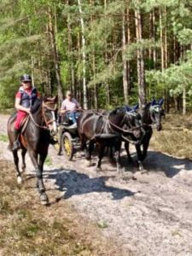
[[[164,97],[192,109],[190,0],[2,0],[0,108],[14,107],[20,75],[42,94],[73,90],[84,108]]]

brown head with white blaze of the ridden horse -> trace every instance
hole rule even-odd
[[[57,111],[57,96],[47,97],[44,96],[43,100],[43,116],[45,125],[49,128],[49,131],[54,135],[57,131],[56,127],[56,111]]]

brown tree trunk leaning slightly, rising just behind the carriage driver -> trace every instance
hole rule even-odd
[[[60,73],[60,61],[58,50],[56,47],[55,42],[55,26],[54,26],[54,16],[52,15],[51,9],[48,10],[48,17],[49,17],[49,38],[50,44],[52,48],[52,54],[54,59],[54,66],[55,66],[55,77],[57,81],[57,88],[58,88],[58,100],[59,100],[59,108],[61,107],[61,102],[63,100],[62,94],[62,84],[61,84],[61,73]]]

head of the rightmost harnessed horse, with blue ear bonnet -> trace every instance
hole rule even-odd
[[[152,122],[152,125],[155,125],[157,131],[160,131],[162,129],[161,125],[161,117],[165,115],[164,109],[162,108],[163,99],[160,99],[160,101],[153,100],[149,104],[149,116]]]

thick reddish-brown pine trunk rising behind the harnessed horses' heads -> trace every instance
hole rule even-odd
[[[137,44],[142,44],[142,19],[140,11],[135,10],[135,24]],[[145,86],[145,68],[143,58],[143,48],[137,45],[137,82],[138,82],[138,96],[139,108],[142,110],[146,103],[146,86]]]

